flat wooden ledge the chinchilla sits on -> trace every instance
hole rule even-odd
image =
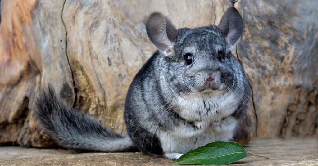
[[[246,150],[266,155],[270,160],[248,155],[231,165],[317,165],[317,138],[263,139]],[[64,149],[0,147],[0,165],[173,165],[172,161],[127,153],[78,153]]]

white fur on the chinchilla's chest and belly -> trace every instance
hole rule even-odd
[[[203,101],[206,107],[209,105],[209,111],[204,108]],[[218,107],[213,107],[215,104]],[[196,128],[185,123],[176,126],[173,130],[162,131],[159,139],[164,153],[185,153],[213,141],[232,139],[238,123],[234,117],[229,116],[238,105],[237,96],[233,93],[187,96],[177,100],[176,105],[180,108],[179,115],[185,120],[209,125]],[[221,121],[224,117],[227,118]]]

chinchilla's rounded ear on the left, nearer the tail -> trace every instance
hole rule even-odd
[[[178,30],[161,13],[152,13],[146,23],[147,35],[156,47],[169,55],[178,36]]]

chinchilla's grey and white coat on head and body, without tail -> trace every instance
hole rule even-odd
[[[229,10],[225,15],[241,18],[235,8]],[[227,18],[223,21],[229,21]],[[237,40],[243,22],[238,29],[232,22],[227,26],[231,27],[227,34]],[[158,38],[167,37],[150,35],[156,39],[155,45],[166,42]],[[171,53],[158,47],[135,76],[126,98],[127,130],[138,149],[176,159],[206,143],[233,139],[236,125],[245,115],[250,86],[228,47],[236,41],[229,39],[215,25],[180,28]],[[221,61],[217,59],[219,51],[224,53]],[[194,56],[190,65],[185,63],[186,53]],[[205,87],[209,75],[214,78],[214,90]],[[149,149],[152,144],[161,149]]]

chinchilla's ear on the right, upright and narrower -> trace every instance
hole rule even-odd
[[[227,50],[232,51],[243,31],[243,19],[239,11],[234,7],[227,9],[218,24],[218,28],[220,28],[226,36]]]

